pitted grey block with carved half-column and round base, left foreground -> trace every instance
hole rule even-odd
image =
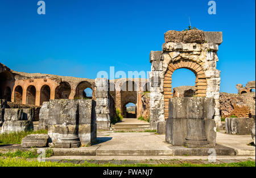
[[[56,148],[80,146],[79,110],[76,100],[50,100],[48,135]]]

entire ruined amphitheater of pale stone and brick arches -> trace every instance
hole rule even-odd
[[[56,134],[62,135],[61,139],[63,140],[59,143],[60,139],[56,145],[69,147],[64,144],[67,142],[67,138],[63,136],[66,135],[67,137],[68,133],[63,133],[63,130],[56,130],[51,126],[56,124],[62,128],[62,120],[57,120],[53,116],[57,113],[61,115],[61,113],[68,112],[65,109],[69,108],[73,109],[73,113],[77,112],[79,117],[72,116],[70,113],[69,116],[61,117],[67,118],[68,123],[73,125],[69,129],[73,128],[71,130],[74,130],[74,133],[71,137],[69,135],[68,140],[70,143],[72,142],[72,146],[76,147],[77,139],[79,140],[75,131],[77,118],[79,118],[79,123],[84,125],[79,126],[80,135],[91,134],[89,139],[80,137],[80,140],[94,140],[96,138],[96,133],[92,134],[96,132],[96,129],[93,129],[94,123],[97,124],[97,130],[112,129],[110,120],[116,116],[117,109],[123,118],[128,118],[131,114],[128,113],[126,105],[133,103],[135,114],[132,117],[149,119],[151,129],[157,130],[159,134],[166,134],[168,143],[179,146],[185,143],[188,147],[214,146],[216,139],[214,129],[216,130],[216,127],[222,129],[223,125],[221,114],[230,116],[229,113],[232,112],[225,111],[220,106],[220,101],[221,103],[226,102],[220,99],[221,79],[220,71],[217,69],[217,51],[218,45],[222,43],[222,32],[168,31],[164,34],[164,40],[162,51],[150,52],[151,72],[148,79],[119,78],[109,80],[108,78],[89,79],[25,73],[13,71],[0,63],[2,132],[5,131],[5,128],[14,127],[5,126],[5,122],[7,124],[5,115],[9,113],[8,109],[11,107],[23,108],[23,111],[10,111],[17,114],[26,113],[25,108],[33,107],[35,108],[34,114],[26,114],[34,115],[33,121],[42,122],[44,126],[47,125],[43,129],[49,129],[48,135],[52,135],[52,140]],[[195,74],[195,86],[172,89],[172,73],[181,68],[188,69]],[[114,86],[114,90],[109,90],[111,86]],[[85,89],[88,88],[92,90],[92,96],[86,96]],[[245,92],[253,92],[255,81],[249,82],[245,87],[238,84],[237,89],[240,95]],[[84,102],[83,99],[89,102]],[[245,112],[247,117],[254,115],[255,119],[255,96],[252,100],[254,100],[254,106]],[[196,113],[191,113],[191,110],[181,108],[180,103],[183,103],[186,108],[192,108],[189,103],[193,103],[193,106],[202,108],[203,113],[200,113],[199,110],[195,111]],[[89,116],[81,108],[88,111]],[[195,117],[192,116],[193,114],[196,114]],[[184,115],[182,119],[186,118],[182,123],[180,123],[180,115]],[[200,118],[200,122],[197,118]],[[204,119],[208,120],[204,121]],[[11,119],[8,122],[11,122]],[[85,127],[89,128],[88,124],[91,125],[90,129],[84,129]],[[192,125],[196,125],[196,128],[192,128]],[[182,131],[177,130],[180,126],[182,126]],[[193,134],[189,135],[189,133],[197,133],[198,130],[195,129],[202,132],[198,133],[196,138],[192,138]],[[177,131],[182,132],[180,133],[183,135],[181,140],[176,140],[179,137],[175,135]],[[194,142],[194,139],[201,140],[200,144]]]

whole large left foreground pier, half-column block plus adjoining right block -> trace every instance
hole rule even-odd
[[[57,148],[79,147],[96,141],[92,100],[50,100],[48,135]]]

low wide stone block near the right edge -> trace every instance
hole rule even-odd
[[[247,135],[251,134],[253,126],[255,126],[255,119],[253,118],[225,118],[226,133]]]

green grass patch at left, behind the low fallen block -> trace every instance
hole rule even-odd
[[[13,133],[2,133],[0,134],[0,144],[20,144],[22,138],[30,134],[47,134],[47,130],[38,130],[38,131],[19,131]]]

